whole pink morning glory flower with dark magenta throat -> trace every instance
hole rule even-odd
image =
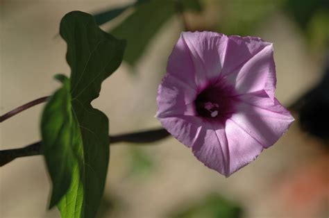
[[[158,89],[156,117],[205,166],[230,176],[294,121],[274,97],[275,89],[271,43],[184,32]]]

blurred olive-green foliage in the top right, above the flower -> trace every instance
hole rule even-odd
[[[310,45],[328,47],[328,0],[221,0],[217,31],[226,35],[255,35],[257,28],[271,15],[283,11],[301,28]]]

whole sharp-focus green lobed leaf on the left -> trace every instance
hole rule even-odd
[[[92,15],[69,12],[60,23],[71,77],[42,114],[42,149],[53,188],[50,208],[62,217],[94,217],[101,202],[109,160],[108,118],[92,107],[101,83],[119,67],[124,40],[101,31]]]

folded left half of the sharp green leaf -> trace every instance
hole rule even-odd
[[[81,153],[74,151],[79,145],[78,140],[72,136],[80,132],[77,131],[71,113],[69,79],[63,75],[55,77],[62,82],[62,87],[53,94],[45,106],[41,124],[42,149],[53,181],[50,207],[66,194],[71,184],[71,173],[78,165],[75,156],[81,156]],[[81,135],[77,135],[78,137]]]

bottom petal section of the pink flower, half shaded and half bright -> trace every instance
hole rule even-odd
[[[208,123],[209,125],[209,123]],[[234,121],[202,128],[194,140],[194,156],[210,169],[228,177],[255,160],[264,147]]]

